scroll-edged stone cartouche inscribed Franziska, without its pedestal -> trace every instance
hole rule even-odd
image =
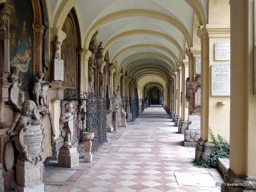
[[[24,150],[27,161],[38,163],[44,161],[44,140],[46,134],[42,120],[29,121],[19,133],[20,145]]]

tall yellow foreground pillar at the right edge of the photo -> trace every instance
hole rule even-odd
[[[256,191],[255,1],[230,1],[230,160],[221,191]],[[246,25],[243,25],[246,23]]]

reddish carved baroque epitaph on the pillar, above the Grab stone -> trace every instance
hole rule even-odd
[[[189,111],[194,113],[201,109],[201,75],[197,75],[196,81],[189,86],[189,97],[191,99]]]

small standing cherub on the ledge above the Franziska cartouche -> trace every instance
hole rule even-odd
[[[43,77],[44,77],[43,72],[37,72],[36,77],[34,79],[34,86],[33,86],[32,92],[35,96],[35,103],[37,106],[39,106],[39,97],[43,99],[44,106],[47,106],[47,102],[46,102],[47,90],[48,90],[48,87],[52,85],[50,82],[44,81]],[[42,88],[41,83],[46,83],[46,85],[44,85]]]

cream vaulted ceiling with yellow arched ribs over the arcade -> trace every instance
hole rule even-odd
[[[207,21],[207,0],[48,0],[52,28],[62,28],[72,7],[80,22],[83,48],[98,30],[116,72],[139,86],[166,85],[185,48],[193,46],[195,25]],[[196,26],[196,27],[197,27]]]

